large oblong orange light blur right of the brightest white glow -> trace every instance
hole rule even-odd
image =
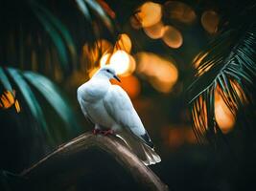
[[[178,77],[175,65],[154,53],[137,53],[138,72],[147,76],[152,87],[169,93]]]

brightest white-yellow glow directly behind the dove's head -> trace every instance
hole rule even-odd
[[[106,53],[100,60],[101,67],[105,64],[110,64],[117,74],[126,76],[132,74],[136,68],[136,62],[134,58],[125,51],[117,51],[109,58],[110,53]],[[109,61],[108,61],[109,60]],[[108,61],[108,63],[107,63]]]

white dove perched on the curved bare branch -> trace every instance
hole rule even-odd
[[[78,88],[83,115],[95,124],[94,133],[122,138],[146,165],[160,162],[127,93],[120,86],[112,85],[111,78],[120,81],[115,70],[106,65]]]

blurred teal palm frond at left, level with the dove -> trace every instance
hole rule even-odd
[[[67,104],[67,100],[60,96],[61,94],[58,87],[45,76],[34,72],[22,72],[14,68],[3,69],[0,67],[0,84],[2,84],[5,89],[9,87],[11,91],[15,90],[16,94],[21,93],[22,99],[25,100],[26,106],[29,108],[29,113],[35,118],[39,126],[42,127],[45,136],[49,138],[49,140],[55,141],[55,138],[53,134],[50,133],[49,121],[42,107],[44,102],[39,101],[36,93],[43,96],[51,108],[54,109],[58,116],[65,122],[66,129],[64,129],[64,131],[71,135],[78,133],[79,125],[72,108]],[[24,108],[26,107],[21,105],[21,112],[23,112],[22,110],[24,110]]]

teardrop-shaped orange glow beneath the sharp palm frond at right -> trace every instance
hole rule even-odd
[[[228,133],[235,124],[234,115],[228,109],[218,91],[215,93],[215,118],[222,133]]]

